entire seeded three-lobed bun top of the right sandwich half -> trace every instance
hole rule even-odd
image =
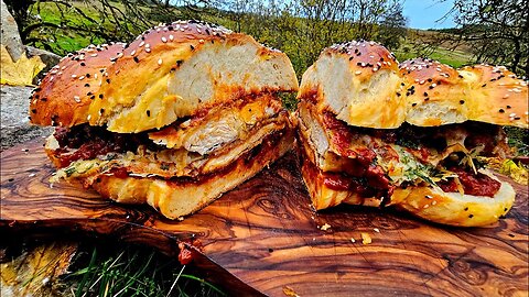
[[[303,74],[298,98],[356,127],[481,121],[527,129],[527,85],[503,66],[454,69],[425,58],[399,65],[380,44],[361,41],[325,48]]]

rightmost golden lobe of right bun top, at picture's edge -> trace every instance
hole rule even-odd
[[[504,66],[476,65],[458,72],[472,96],[469,120],[529,128],[527,81]]]

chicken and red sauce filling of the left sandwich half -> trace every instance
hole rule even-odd
[[[288,113],[272,96],[202,110],[162,130],[115,133],[88,124],[57,128],[47,151],[56,177],[111,174],[137,177],[196,177],[220,170],[289,128]]]

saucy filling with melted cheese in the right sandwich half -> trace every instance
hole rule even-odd
[[[420,128],[347,125],[311,103],[299,108],[305,172],[331,189],[389,199],[395,188],[429,185],[445,193],[494,197],[500,183],[479,172],[483,156],[505,156],[498,125],[465,122]],[[385,200],[387,201],[387,200]]]

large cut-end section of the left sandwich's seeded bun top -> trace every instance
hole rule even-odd
[[[222,26],[177,21],[145,31],[108,59],[95,100],[73,118],[132,133],[249,95],[296,90],[283,53]]]

